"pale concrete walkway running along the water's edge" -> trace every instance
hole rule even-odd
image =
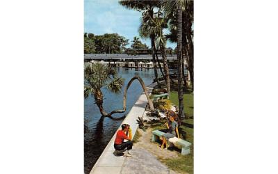
[[[155,84],[151,84],[147,87],[148,93],[152,93],[152,89],[156,86]],[[131,111],[129,111],[129,114],[126,116],[124,121],[122,123],[128,123],[131,125],[132,129],[132,137],[136,133],[136,129],[138,128],[138,124],[136,119],[139,116],[142,116],[145,112],[145,106],[147,105],[147,97],[144,92],[140,95],[137,102],[133,105],[131,108]],[[118,129],[121,129],[120,127]],[[136,171],[127,171],[131,169],[127,169],[124,166],[131,166],[130,163],[133,163],[132,160],[140,158],[142,159],[142,156],[140,156],[142,150],[137,151],[136,149],[132,150],[135,152],[133,157],[131,159],[126,159],[126,157],[116,157],[113,155],[114,149],[114,140],[115,140],[116,133],[112,137],[111,141],[109,141],[108,145],[106,145],[106,148],[104,149],[104,152],[102,152],[101,156],[97,160],[95,166],[92,168],[92,171],[90,171],[90,174],[120,174],[120,173],[136,173]],[[144,153],[144,152],[143,152]],[[145,155],[149,155],[149,153],[145,153]],[[148,156],[149,157],[149,156]],[[152,158],[154,159],[154,158]],[[131,160],[131,161],[130,161]],[[156,159],[157,160],[157,159]],[[158,161],[159,162],[159,161]],[[126,164],[127,163],[127,164]],[[138,164],[138,162],[137,162]],[[142,173],[142,168],[139,168],[140,173]],[[155,173],[156,171],[154,171]],[[152,172],[151,172],[152,173]]]

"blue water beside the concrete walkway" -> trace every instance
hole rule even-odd
[[[118,74],[122,76],[124,80],[124,88],[129,80],[135,75],[140,76],[145,82],[145,86],[152,84],[154,79],[153,69],[134,69],[134,68],[116,68]],[[101,88],[104,94],[104,110],[109,113],[115,109],[122,109],[123,91],[119,95],[109,92],[106,88]],[[138,97],[142,93],[142,87],[139,81],[133,81],[129,90],[127,91],[126,100],[126,112],[115,113],[113,117],[120,117],[127,115],[131,107],[138,100]],[[95,162],[101,155],[108,142],[122,120],[111,120],[111,118],[102,118],[99,113],[97,104],[94,104],[95,100],[92,96],[84,100],[84,170],[85,173],[90,173]]]

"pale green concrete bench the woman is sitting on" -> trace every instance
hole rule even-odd
[[[159,136],[163,136],[163,134],[165,134],[165,132],[161,132],[160,130],[154,130],[152,131],[152,141],[158,141]],[[169,143],[171,143],[169,141]],[[190,145],[191,143],[188,141],[185,141],[183,139],[179,139],[177,141],[178,145],[181,145],[181,155],[188,155],[190,154]],[[171,143],[170,146],[172,146],[173,143]]]

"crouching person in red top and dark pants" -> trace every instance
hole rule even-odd
[[[116,139],[114,141],[114,148],[118,151],[124,151],[124,157],[131,157],[129,150],[132,149],[132,134],[131,128],[128,124],[122,124],[122,130],[118,130],[116,134]],[[124,142],[124,140],[128,140]]]

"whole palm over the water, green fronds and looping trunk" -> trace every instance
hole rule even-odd
[[[126,93],[129,89],[129,86],[131,86],[132,82],[136,79],[140,82],[145,92],[149,103],[149,108],[151,111],[154,111],[154,104],[149,98],[144,81],[140,77],[135,76],[129,81],[126,88],[124,89],[123,109],[106,113],[103,107],[104,95],[101,92],[101,88],[106,86],[108,90],[111,90],[111,92],[120,93],[122,86],[124,85],[124,79],[122,79],[122,77],[117,77],[117,72],[113,68],[107,65],[102,65],[101,63],[90,63],[90,65],[85,68],[84,97],[87,98],[91,94],[92,97],[95,98],[101,115],[112,118],[111,116],[114,113],[124,113],[126,111]]]

